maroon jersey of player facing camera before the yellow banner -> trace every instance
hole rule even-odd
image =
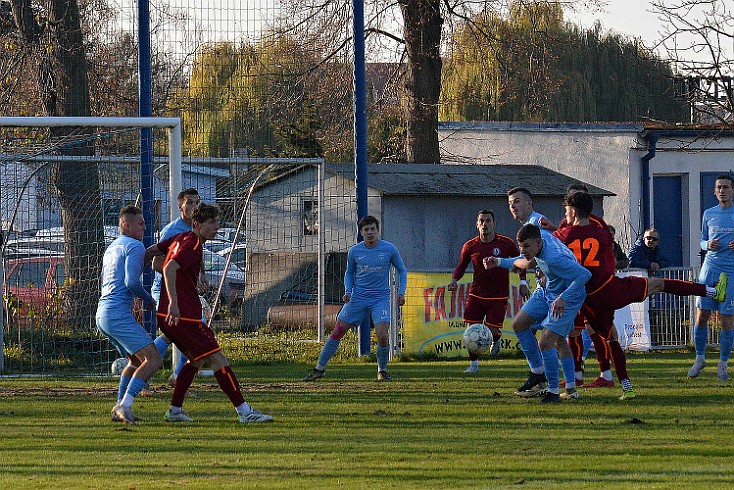
[[[458,281],[464,276],[471,261],[474,264],[474,279],[469,286],[469,295],[482,299],[507,299],[510,290],[510,271],[504,267],[484,268],[485,257],[517,257],[520,255],[515,242],[504,235],[495,234],[491,242],[474,237],[461,248],[459,265],[451,277]]]

